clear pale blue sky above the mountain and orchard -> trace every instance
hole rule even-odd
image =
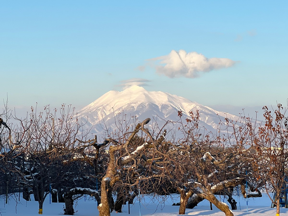
[[[8,106],[19,113],[36,102],[80,110],[133,78],[149,91],[234,114],[287,105],[287,6],[287,1],[2,2],[0,99],[8,95]],[[196,78],[183,71],[171,78],[167,73],[174,66],[161,73],[159,67],[163,59],[173,60],[167,57],[172,50],[233,64],[199,69]]]

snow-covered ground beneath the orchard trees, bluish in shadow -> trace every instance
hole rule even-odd
[[[219,197],[218,197],[219,198]],[[234,210],[234,215],[238,216],[273,216],[276,215],[276,208],[271,209],[271,201],[264,194],[261,198],[249,198],[248,200],[248,213],[247,213],[247,205],[246,200],[240,197],[240,206],[239,199],[234,197],[237,201],[237,209]],[[31,196],[31,200],[33,197]],[[136,199],[135,199],[136,200]],[[221,201],[223,201],[223,197],[221,197]],[[141,216],[145,215],[156,215],[156,216],[166,216],[166,215],[178,215],[179,206],[171,206],[173,202],[179,202],[179,197],[174,195],[174,197],[168,198],[163,204],[155,204],[152,202],[152,199],[149,197],[141,198]],[[227,203],[225,199],[224,202]],[[159,202],[158,202],[159,203]],[[43,206],[43,215],[63,215],[63,205],[64,203],[49,203],[49,196],[46,198]],[[82,216],[97,216],[98,210],[96,208],[96,202],[94,199],[79,199],[76,203],[74,203],[74,210],[77,211],[75,215]],[[17,202],[16,198],[10,198],[9,203],[5,204],[5,199],[2,197],[0,200],[0,212],[2,216],[28,216],[28,215],[38,215],[38,202],[29,201],[20,199],[20,202]],[[115,211],[111,213],[113,216],[121,216],[128,215],[128,202],[123,207],[123,213],[116,213]],[[139,215],[139,201],[136,200],[135,204],[130,204],[130,215],[137,216]],[[200,202],[198,206],[194,209],[186,209],[186,215],[212,215],[212,216],[220,216],[225,215],[223,212],[219,211],[214,205],[213,210],[210,210],[209,202],[204,200]],[[280,215],[288,216],[288,209],[281,208]]]

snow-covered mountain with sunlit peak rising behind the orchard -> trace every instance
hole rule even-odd
[[[131,86],[122,92],[109,91],[93,103],[84,107],[78,112],[78,119],[87,121],[86,127],[91,128],[92,133],[100,133],[105,129],[116,129],[119,121],[141,122],[146,118],[153,120],[149,123],[162,127],[167,120],[178,121],[178,111],[183,112],[182,119],[189,116],[189,111],[196,113],[199,110],[201,128],[206,131],[216,132],[220,120],[225,118],[237,120],[239,117],[229,113],[219,112],[186,98],[172,95],[165,92],[148,92],[142,87]]]

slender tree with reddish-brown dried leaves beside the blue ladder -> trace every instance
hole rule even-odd
[[[262,181],[268,196],[269,192],[275,192],[272,200],[276,205],[276,215],[280,214],[280,199],[284,197],[283,190],[287,189],[285,176],[288,175],[288,117],[285,116],[281,104],[277,105],[274,112],[263,107],[265,122],[258,130],[251,130],[255,157],[253,170],[255,178]]]

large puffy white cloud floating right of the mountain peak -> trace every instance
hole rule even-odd
[[[209,72],[214,69],[227,68],[235,64],[229,58],[206,58],[197,52],[172,50],[166,56],[150,59],[157,61],[156,71],[168,77],[198,77],[198,72]],[[158,61],[160,60],[160,61]]]

